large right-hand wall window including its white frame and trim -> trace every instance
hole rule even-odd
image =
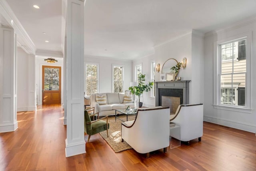
[[[214,42],[214,108],[252,113],[252,32]]]

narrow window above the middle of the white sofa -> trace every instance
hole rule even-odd
[[[124,92],[124,66],[113,65],[113,92]]]

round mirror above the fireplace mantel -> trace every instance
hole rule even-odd
[[[178,61],[174,58],[170,58],[166,60],[166,62],[164,62],[164,65],[162,66],[162,74],[166,74],[166,81],[172,81],[172,80],[174,81],[171,68],[173,66],[176,66],[177,64],[178,64]],[[178,75],[178,73],[175,74],[175,78]]]

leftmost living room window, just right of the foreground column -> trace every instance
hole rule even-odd
[[[85,64],[85,95],[98,93],[98,64]]]

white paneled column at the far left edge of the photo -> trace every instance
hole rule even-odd
[[[14,30],[0,27],[0,132],[18,128],[16,62]]]

